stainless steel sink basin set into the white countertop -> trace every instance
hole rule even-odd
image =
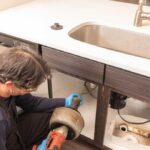
[[[148,34],[83,23],[73,28],[69,36],[98,47],[150,59],[150,35]]]

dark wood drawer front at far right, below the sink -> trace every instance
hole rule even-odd
[[[105,84],[131,97],[150,101],[150,78],[106,66]]]

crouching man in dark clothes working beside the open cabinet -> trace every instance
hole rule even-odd
[[[69,107],[75,96],[82,100],[76,93],[51,100],[32,96],[49,76],[49,67],[37,54],[20,48],[0,53],[0,150],[31,150],[47,136],[56,107]],[[16,106],[25,113],[18,116]]]

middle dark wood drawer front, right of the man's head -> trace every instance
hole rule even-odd
[[[104,64],[47,47],[42,47],[42,56],[51,68],[78,78],[103,83]]]

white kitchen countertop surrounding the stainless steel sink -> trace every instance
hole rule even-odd
[[[111,0],[33,0],[0,11],[0,33],[60,49],[150,77],[150,59],[96,47],[72,39],[68,32],[84,22],[150,34],[150,25],[134,27],[137,5]],[[59,22],[62,30],[51,30]]]

